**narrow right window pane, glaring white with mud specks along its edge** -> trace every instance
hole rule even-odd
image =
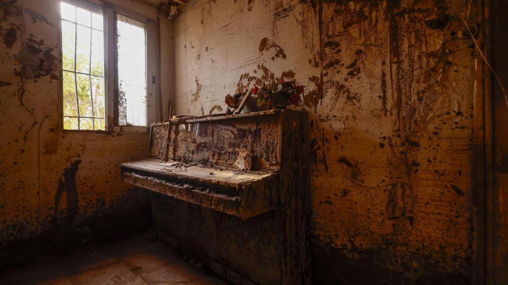
[[[117,15],[118,123],[146,126],[145,25]]]

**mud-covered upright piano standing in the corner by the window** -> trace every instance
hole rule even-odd
[[[309,284],[307,113],[172,119],[122,180],[150,190],[158,237],[237,284]]]

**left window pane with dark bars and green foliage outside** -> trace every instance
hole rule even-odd
[[[61,4],[65,129],[106,129],[103,16],[100,8],[90,9]]]

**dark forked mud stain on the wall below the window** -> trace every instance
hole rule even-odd
[[[70,226],[74,222],[76,215],[78,215],[78,191],[76,188],[76,173],[78,172],[81,160],[75,160],[71,165],[62,170],[60,180],[58,181],[58,188],[55,193],[55,206],[53,213],[53,224],[58,224],[58,208],[60,206],[60,199],[63,193],[67,197],[67,213],[66,225]]]

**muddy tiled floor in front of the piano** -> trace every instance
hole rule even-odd
[[[0,284],[230,284],[161,240],[135,237],[65,257],[45,257],[26,268],[0,275]],[[188,257],[187,257],[188,259]]]

